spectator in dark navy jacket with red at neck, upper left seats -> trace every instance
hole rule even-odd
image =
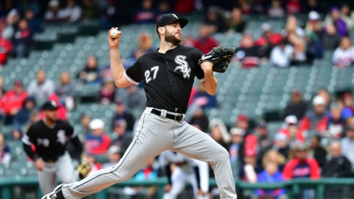
[[[25,57],[29,54],[29,48],[33,41],[33,33],[31,31],[27,20],[21,19],[12,39],[14,53],[17,57]]]

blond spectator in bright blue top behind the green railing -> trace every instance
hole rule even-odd
[[[265,170],[258,174],[257,182],[283,182],[284,177],[281,171],[278,169],[278,164],[275,162],[267,162],[265,165]],[[285,189],[276,189],[276,190],[264,190],[258,189],[255,191],[255,194],[259,197],[271,197],[276,199],[286,199]]]

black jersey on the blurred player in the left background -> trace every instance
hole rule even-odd
[[[27,145],[34,144],[36,154],[44,160],[56,160],[65,152],[67,137],[76,137],[68,122],[57,120],[54,126],[48,126],[44,120],[40,120],[29,127],[22,142]]]

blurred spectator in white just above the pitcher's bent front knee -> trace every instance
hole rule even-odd
[[[224,148],[229,149],[231,139],[224,122],[221,119],[212,119],[209,123],[209,129],[211,138]]]

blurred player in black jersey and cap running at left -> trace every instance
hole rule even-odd
[[[57,186],[56,177],[63,183],[70,183],[78,176],[65,150],[66,142],[71,140],[80,153],[83,149],[73,127],[58,119],[55,101],[45,102],[42,110],[45,117],[29,127],[22,142],[27,155],[35,161],[42,193],[47,194]],[[34,151],[32,145],[35,146]]]

